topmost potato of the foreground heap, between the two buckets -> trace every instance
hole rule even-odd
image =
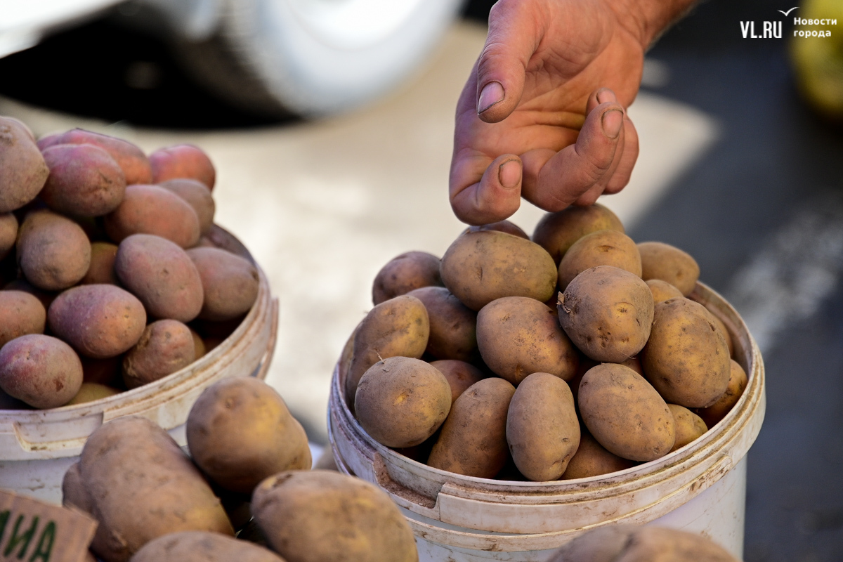
[[[187,417],[194,462],[226,490],[251,494],[283,470],[309,470],[308,436],[268,384],[227,378],[206,388]]]

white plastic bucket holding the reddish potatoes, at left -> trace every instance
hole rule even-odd
[[[220,379],[264,378],[275,351],[278,302],[260,270],[258,297],[234,333],[206,356],[154,383],[85,404],[0,410],[0,488],[61,503],[62,478],[88,436],[121,415],[142,415],[186,444],[185,421],[199,394]]]

